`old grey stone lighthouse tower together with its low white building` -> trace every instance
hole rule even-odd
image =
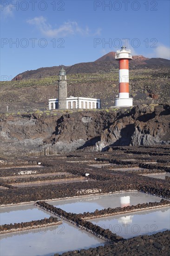
[[[49,99],[49,109],[92,109],[101,108],[100,99],[73,97],[67,98],[67,79],[65,70],[62,69],[59,72],[59,98]]]

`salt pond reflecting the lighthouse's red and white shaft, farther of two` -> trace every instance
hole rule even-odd
[[[58,208],[71,213],[94,212],[96,209],[107,209],[109,207],[124,207],[128,205],[137,205],[144,202],[160,202],[161,197],[149,195],[140,191],[118,192],[109,195],[95,195],[88,197],[79,197],[59,201],[50,201]]]

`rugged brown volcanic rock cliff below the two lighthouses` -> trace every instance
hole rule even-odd
[[[118,145],[170,144],[170,105],[1,115],[1,156],[49,155]],[[8,152],[8,153],[7,153]]]

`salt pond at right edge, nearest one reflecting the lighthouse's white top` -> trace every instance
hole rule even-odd
[[[125,239],[140,235],[152,235],[170,229],[170,207],[96,218],[89,221],[103,229],[110,229],[112,233]]]

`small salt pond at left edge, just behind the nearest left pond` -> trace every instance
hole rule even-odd
[[[0,225],[36,221],[50,216],[34,204],[0,207]]]

